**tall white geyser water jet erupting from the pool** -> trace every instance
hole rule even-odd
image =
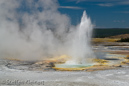
[[[72,44],[72,59],[66,64],[86,64],[89,63],[88,58],[94,58],[91,48],[93,25],[90,18],[87,17],[86,11],[83,12],[81,23],[77,26]]]

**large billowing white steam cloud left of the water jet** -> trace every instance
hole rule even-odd
[[[76,28],[57,0],[0,0],[0,58],[72,56]]]

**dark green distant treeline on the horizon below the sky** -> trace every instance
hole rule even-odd
[[[129,28],[95,28],[93,30],[93,37],[94,38],[105,38],[120,34],[129,34]]]

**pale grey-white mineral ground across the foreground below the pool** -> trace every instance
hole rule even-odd
[[[33,86],[128,86],[129,67],[95,72],[63,72],[63,71],[29,71],[9,69],[5,61],[0,61],[1,86],[31,86],[31,84],[16,85],[9,81],[44,81],[44,85]],[[5,84],[6,82],[6,84]]]

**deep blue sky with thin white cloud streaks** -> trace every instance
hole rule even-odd
[[[86,10],[95,28],[129,28],[129,0],[58,0],[59,11],[77,25]]]

